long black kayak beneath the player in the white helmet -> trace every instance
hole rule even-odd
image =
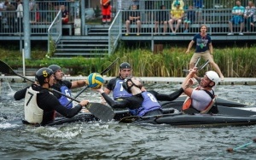
[[[119,123],[151,123],[169,124],[181,127],[223,127],[245,126],[256,124],[256,111],[245,111],[238,108],[218,106],[219,113],[223,114],[183,114],[169,113],[148,117],[124,117]]]

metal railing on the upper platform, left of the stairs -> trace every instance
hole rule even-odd
[[[29,22],[31,35],[47,35],[48,28],[60,10],[61,5],[65,5],[69,12],[69,23],[73,23],[76,17],[79,17],[79,1],[31,1],[29,3]],[[14,7],[15,2],[10,2]],[[3,10],[0,11],[0,35],[22,35],[22,20],[17,17],[15,10],[6,10],[7,7],[2,3]]]

